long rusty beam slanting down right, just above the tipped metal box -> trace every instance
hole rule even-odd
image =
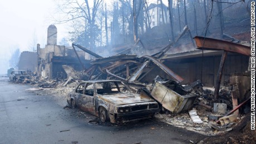
[[[147,58],[150,59],[152,62],[154,62],[157,66],[159,66],[161,69],[163,69],[163,71],[165,71],[169,76],[171,76],[172,78],[174,78],[174,80],[178,81],[178,82],[182,82],[184,81],[184,79],[182,77],[180,77],[179,75],[177,75],[175,72],[171,71],[170,68],[166,67],[163,63],[157,61],[157,59],[155,59],[154,57],[151,56],[143,56],[143,58]]]

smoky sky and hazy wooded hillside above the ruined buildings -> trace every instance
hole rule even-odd
[[[21,52],[34,51],[37,43],[43,48],[50,24],[57,27],[57,44],[80,44],[102,56],[132,47],[138,39],[145,48],[139,43],[139,51],[133,52],[139,55],[155,53],[173,42],[186,25],[192,37],[220,39],[223,34],[230,36],[249,31],[250,26],[250,1],[151,0],[132,3],[126,0],[96,0],[95,4],[93,1],[77,1],[82,7],[70,2],[0,2],[0,16],[3,19],[0,23],[0,73],[7,72],[9,59],[16,49]],[[71,11],[76,8],[78,11]],[[188,34],[176,46],[179,50],[169,53],[195,49]]]

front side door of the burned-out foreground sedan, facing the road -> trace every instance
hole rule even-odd
[[[85,91],[82,95],[82,110],[95,115],[95,91],[93,83],[86,83]]]

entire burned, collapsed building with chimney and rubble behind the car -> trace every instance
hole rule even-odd
[[[145,45],[138,39],[133,46],[130,44],[121,51],[114,48],[116,54],[102,57],[100,53],[75,43],[72,47],[57,45],[57,28],[51,25],[46,47],[37,46],[37,73],[53,82],[40,86],[73,90],[81,80],[120,80],[132,90],[154,98],[162,112],[174,115],[171,118],[164,116],[167,117],[165,122],[177,126],[182,123],[181,127],[193,130],[195,126],[200,127],[197,130],[201,132],[212,128],[230,130],[233,121],[248,108],[249,44],[234,41],[233,37],[233,42],[190,37],[192,44],[188,44],[189,48],[179,51],[182,47],[178,41],[184,34],[191,36],[189,33],[189,28],[185,27],[174,43],[148,56],[148,52],[143,51]],[[93,59],[89,59],[89,55]],[[76,76],[81,73],[83,77]],[[58,84],[60,80],[62,83]],[[72,86],[68,87],[68,83]],[[194,110],[190,111],[192,108]],[[183,118],[181,122],[180,117]],[[209,121],[220,122],[223,126]]]

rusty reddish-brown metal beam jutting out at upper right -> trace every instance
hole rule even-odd
[[[245,56],[251,56],[250,47],[244,46],[242,44],[198,36],[194,37],[194,39],[196,42],[196,46],[198,47],[197,49],[206,49],[213,51],[224,50],[227,52],[235,52],[244,54]]]

